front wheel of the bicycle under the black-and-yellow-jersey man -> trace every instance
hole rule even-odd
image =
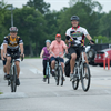
[[[17,80],[17,68],[14,65],[13,67],[13,75],[12,75],[12,79],[11,79],[11,92],[16,92],[17,91],[16,80]]]

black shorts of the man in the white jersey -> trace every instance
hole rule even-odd
[[[68,49],[68,52],[69,52],[70,54],[77,53],[77,56],[80,56],[81,52],[84,52],[84,48],[81,48],[81,47],[70,47],[70,48]]]

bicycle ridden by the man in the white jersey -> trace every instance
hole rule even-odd
[[[91,82],[91,74],[90,74],[90,68],[89,65],[85,63],[84,60],[84,54],[83,54],[83,47],[79,47],[82,49],[81,56],[77,56],[77,60],[75,60],[75,65],[74,65],[74,74],[73,74],[73,80],[72,80],[72,87],[73,90],[77,90],[79,87],[79,81],[81,81],[82,84],[82,89],[83,91],[88,91],[90,88],[90,82]],[[68,56],[69,59],[71,59],[71,57]],[[85,83],[84,79],[88,80],[88,82]]]

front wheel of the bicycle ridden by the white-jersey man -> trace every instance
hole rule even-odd
[[[82,65],[82,73],[81,73],[81,83],[82,83],[83,91],[87,92],[89,90],[90,81],[91,81],[90,68],[85,63],[85,64]]]

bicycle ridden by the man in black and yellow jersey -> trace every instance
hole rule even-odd
[[[11,92],[16,92],[17,91],[17,67],[16,67],[16,57],[18,54],[17,53],[11,53],[11,59],[12,59],[12,63],[11,63],[11,68],[10,68],[10,79],[8,80],[8,85],[11,87]],[[23,60],[23,57],[21,58],[21,61]]]

